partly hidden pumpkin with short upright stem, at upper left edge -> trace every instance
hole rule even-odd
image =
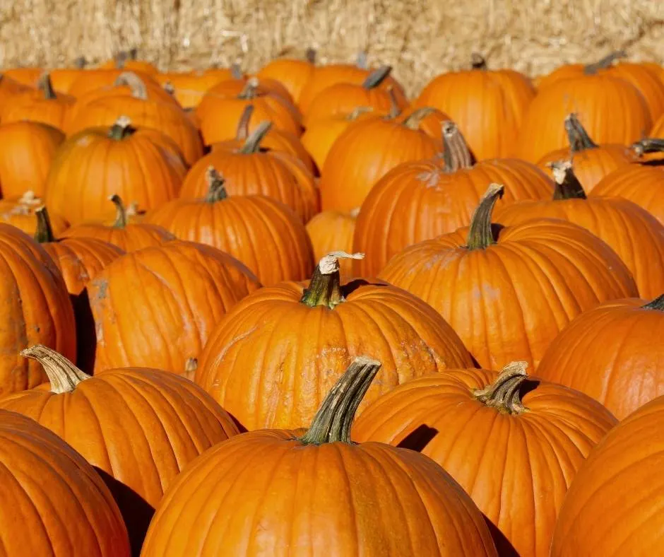
[[[63,127],[67,112],[76,99],[64,93],[56,93],[46,72],[37,83],[37,90],[14,95],[0,113],[3,124],[11,122],[41,122],[55,128]]]

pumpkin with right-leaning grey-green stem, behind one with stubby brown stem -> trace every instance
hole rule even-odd
[[[180,197],[201,199],[208,192],[208,168],[224,176],[229,195],[265,195],[287,205],[307,222],[319,211],[319,193],[314,177],[297,160],[278,151],[263,152],[263,137],[271,129],[261,122],[237,150],[215,149],[189,169]]]

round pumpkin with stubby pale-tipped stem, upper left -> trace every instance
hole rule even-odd
[[[111,194],[145,209],[176,197],[186,168],[154,134],[120,117],[110,128],[91,128],[67,139],[47,178],[49,209],[78,224],[109,218]]]

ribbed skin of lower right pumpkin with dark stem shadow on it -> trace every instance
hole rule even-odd
[[[446,370],[406,382],[362,413],[352,438],[420,450],[506,538],[502,546],[494,537],[500,554],[511,554],[511,544],[518,555],[547,557],[574,474],[617,420],[590,397],[547,382],[522,398],[529,411],[501,413],[473,397],[496,377]]]

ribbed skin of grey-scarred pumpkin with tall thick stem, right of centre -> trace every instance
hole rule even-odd
[[[505,185],[498,206],[550,199],[553,192],[552,180],[523,160],[485,160],[452,173],[437,159],[398,165],[362,204],[353,250],[366,257],[353,262],[355,274],[377,276],[405,247],[468,225],[491,182]]]

